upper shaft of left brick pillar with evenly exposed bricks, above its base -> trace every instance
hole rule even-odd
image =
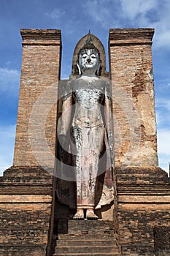
[[[54,167],[61,30],[21,29],[20,78],[14,166]]]

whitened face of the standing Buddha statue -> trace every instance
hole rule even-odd
[[[80,69],[82,74],[92,74],[95,75],[98,69],[98,52],[95,49],[82,50],[80,52]]]

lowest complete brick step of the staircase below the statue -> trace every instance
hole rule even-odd
[[[55,253],[93,253],[112,252],[113,246],[63,246],[55,247]]]

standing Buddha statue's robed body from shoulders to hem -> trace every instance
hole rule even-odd
[[[108,79],[82,75],[67,80],[58,121],[58,138],[65,136],[62,146],[67,152],[57,186],[61,203],[100,208],[112,202],[111,120]]]

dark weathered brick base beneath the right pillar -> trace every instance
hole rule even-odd
[[[170,181],[161,168],[117,168],[117,218],[123,256],[155,255],[154,227],[170,225]],[[158,235],[158,234],[157,234]],[[157,246],[160,246],[157,236]],[[166,244],[165,250],[169,249]]]

